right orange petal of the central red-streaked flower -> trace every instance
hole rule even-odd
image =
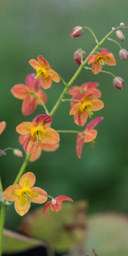
[[[58,143],[58,141],[60,140],[60,136],[57,131],[55,131],[52,128],[46,128],[46,129],[44,129],[44,131],[45,131],[45,133],[44,133],[43,140],[45,142],[50,143],[50,144]]]

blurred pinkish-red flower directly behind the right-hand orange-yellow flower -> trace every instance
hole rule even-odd
[[[101,92],[97,87],[99,83],[96,82],[87,82],[82,84],[81,86],[75,85],[70,87],[69,94],[72,95],[72,99],[80,100],[82,97],[87,96],[89,94],[95,94],[96,99],[101,97]],[[77,102],[71,101],[71,106],[76,104]]]

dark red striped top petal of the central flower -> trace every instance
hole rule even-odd
[[[47,128],[52,123],[52,117],[49,115],[40,114],[32,120],[32,123],[34,123],[35,125],[40,125],[42,123],[44,125],[44,128]]]

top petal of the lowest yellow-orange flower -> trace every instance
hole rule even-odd
[[[32,188],[35,184],[35,175],[33,172],[26,172],[19,180],[20,188],[29,187]]]

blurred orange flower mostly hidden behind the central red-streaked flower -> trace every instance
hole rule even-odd
[[[19,142],[21,145],[23,145],[23,141],[24,141],[24,135],[20,135]],[[55,151],[58,147],[59,147],[59,143],[50,144],[42,140],[38,149],[32,153],[29,161],[30,162],[36,161],[41,156],[41,151],[52,152],[52,151]]]

